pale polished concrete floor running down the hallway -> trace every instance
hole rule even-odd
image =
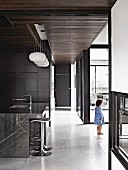
[[[71,111],[53,111],[47,128],[48,157],[0,159],[0,170],[107,170],[108,125],[98,136],[96,126],[83,125]]]

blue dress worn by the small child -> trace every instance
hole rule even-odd
[[[102,113],[101,107],[95,107],[95,118],[94,118],[95,125],[103,125],[104,124],[104,116]]]

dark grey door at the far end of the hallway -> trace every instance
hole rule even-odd
[[[55,106],[71,107],[71,65],[55,65]]]

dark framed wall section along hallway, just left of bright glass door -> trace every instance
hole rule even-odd
[[[90,52],[83,51],[76,64],[77,112],[84,123],[90,123]]]

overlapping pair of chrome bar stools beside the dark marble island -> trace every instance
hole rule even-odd
[[[32,140],[36,141],[36,142],[41,142],[41,148],[39,152],[35,152],[34,154],[32,154],[33,156],[49,156],[52,154],[52,152],[50,152],[50,150],[52,150],[52,147],[50,146],[46,146],[44,144],[44,134],[46,132],[44,132],[44,130],[46,131],[46,129],[43,129],[43,126],[46,124],[46,122],[49,122],[50,118],[34,118],[33,120],[31,120],[31,123],[40,123],[41,124],[41,136],[35,136]],[[44,126],[45,127],[45,126]]]

